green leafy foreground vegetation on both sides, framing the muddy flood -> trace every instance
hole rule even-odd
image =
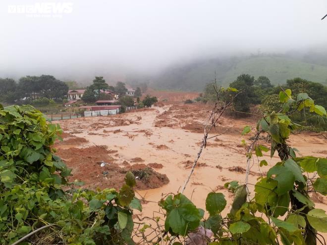
[[[217,91],[218,97],[238,93],[236,89]],[[290,115],[306,108],[309,113],[326,116],[326,110],[306,93],[293,97],[289,89],[281,91],[278,99],[282,110],[261,117],[248,147],[249,164],[250,159],[260,159],[263,151],[269,151],[258,143],[261,134],[268,134],[271,157],[277,152],[280,158],[254,184],[254,197],[249,197],[252,183],[247,180],[245,184],[226,183],[235,195],[231,210],[222,217],[226,200],[221,193],[208,194],[208,215],[182,193],[168,195],[159,202],[165,215],[164,228],[153,244],[182,244],[199,226],[213,232],[211,238],[202,237],[202,244],[323,243],[318,232],[327,232],[327,214],[314,207],[308,194],[327,194],[327,159],[297,157],[296,149],[286,140],[299,127]],[[216,104],[214,112],[222,113],[225,106]],[[247,126],[242,134],[250,131]],[[58,125],[48,124],[31,106],[0,108],[0,243],[15,244],[24,237],[25,242],[34,244],[134,244],[134,234],[146,234],[151,227],[142,223],[142,228],[133,230],[133,208],[142,209],[134,197],[134,176],[126,173],[126,184],[119,192],[76,189],[78,182],[67,181],[71,170],[52,148],[60,132]],[[258,164],[267,165],[267,161],[259,160]],[[32,235],[26,237],[28,234]]]

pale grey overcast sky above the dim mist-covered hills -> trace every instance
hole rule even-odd
[[[8,8],[45,2],[72,4],[56,16]],[[119,76],[228,52],[327,45],[326,13],[327,0],[1,0],[0,77]]]

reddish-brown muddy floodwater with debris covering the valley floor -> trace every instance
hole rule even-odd
[[[177,193],[184,184],[203,137],[203,124],[210,113],[210,106],[201,104],[162,105],[150,109],[114,116],[99,116],[54,121],[64,130],[63,141],[55,144],[57,154],[73,169],[72,180],[85,182],[85,187],[120,188],[126,171],[146,170],[137,182],[137,196],[150,202],[143,203],[143,211],[136,213],[150,216],[159,211],[157,202],[162,195]],[[255,130],[256,118],[233,119],[223,117],[209,137],[225,133],[208,141],[199,164],[190,179],[184,194],[198,207],[205,208],[209,192],[225,195],[227,208],[232,194],[223,188],[224,183],[245,181],[246,147],[253,134],[241,136],[242,128],[250,125]],[[299,150],[298,155],[327,157],[327,140],[320,134],[301,133],[291,135],[289,144]],[[260,144],[269,146],[262,139]],[[265,175],[279,157],[270,152],[268,166],[259,169],[258,159],[251,164],[249,183]],[[102,164],[103,163],[103,164]],[[103,166],[101,166],[103,165]],[[251,196],[253,186],[250,186]],[[327,209],[327,198],[312,196],[316,208]],[[153,202],[152,202],[153,201]],[[223,215],[225,214],[223,213]]]

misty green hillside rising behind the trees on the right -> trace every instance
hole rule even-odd
[[[255,78],[267,76],[272,84],[284,84],[287,79],[301,77],[327,84],[327,65],[308,57],[287,55],[257,55],[222,59],[197,60],[165,69],[154,79],[159,89],[202,91],[205,84],[215,78],[223,86],[233,82],[242,73]]]

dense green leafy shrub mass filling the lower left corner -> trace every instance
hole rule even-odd
[[[32,106],[0,107],[0,244],[47,224],[24,242],[131,244],[132,208],[141,208],[133,174],[119,192],[69,189],[78,183],[52,148],[61,132]]]

